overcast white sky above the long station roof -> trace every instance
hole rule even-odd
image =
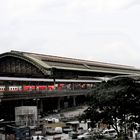
[[[11,50],[140,68],[140,0],[0,1],[0,53]]]

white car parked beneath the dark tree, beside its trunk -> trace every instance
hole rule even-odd
[[[103,130],[102,134],[105,138],[116,138],[117,137],[117,132],[115,129],[105,129],[105,130]]]

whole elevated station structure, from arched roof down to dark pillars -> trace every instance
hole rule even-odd
[[[0,85],[5,85],[6,89],[5,92],[0,92],[0,117],[5,117],[7,111],[8,114],[14,114],[14,107],[20,105],[37,105],[40,111],[74,106],[82,103],[91,91],[91,89],[73,89],[11,92],[7,90],[9,85],[42,85],[46,83],[55,85],[58,84],[58,81],[66,83],[69,80],[71,84],[88,81],[87,83],[96,86],[96,83],[101,82],[102,79],[130,74],[139,75],[140,69],[44,54],[6,52],[0,54]]]

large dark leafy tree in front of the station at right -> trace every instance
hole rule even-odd
[[[140,123],[140,88],[133,78],[116,78],[101,83],[92,91],[87,110],[81,116],[90,119],[92,126],[103,123],[112,126],[120,135],[127,134]]]

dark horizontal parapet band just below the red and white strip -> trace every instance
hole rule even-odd
[[[0,94],[1,100],[34,99],[62,96],[78,96],[91,93],[91,89],[82,90],[53,90],[53,91],[28,91],[28,92],[5,92]]]

